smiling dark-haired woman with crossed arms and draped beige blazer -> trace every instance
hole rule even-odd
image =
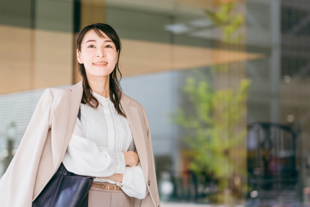
[[[45,90],[0,180],[0,207],[31,207],[61,163],[96,177],[89,207],[159,207],[150,127],[144,108],[121,92],[120,52],[120,39],[107,24],[79,33],[83,80]]]

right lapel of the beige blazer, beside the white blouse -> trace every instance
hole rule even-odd
[[[144,175],[145,181],[147,182],[149,168],[148,168],[148,161],[147,161],[145,137],[144,137],[144,133],[143,133],[142,125],[141,125],[139,112],[138,112],[137,107],[131,106],[130,100],[124,96],[122,97],[121,104],[122,104],[124,113],[126,115],[130,130],[132,133],[133,140],[136,145],[136,149],[139,155],[143,175]]]

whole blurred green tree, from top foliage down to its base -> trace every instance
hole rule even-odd
[[[241,44],[245,39],[242,26],[243,13],[235,12],[236,3],[223,4],[216,10],[205,13],[221,30],[221,42]],[[213,77],[226,73],[231,64],[211,67]],[[183,155],[189,161],[189,168],[198,175],[207,175],[217,182],[219,192],[211,200],[217,203],[235,203],[235,196],[241,196],[246,185],[241,177],[246,175],[246,100],[250,82],[240,80],[237,89],[215,90],[208,81],[188,78],[184,92],[191,103],[190,112],[178,109],[173,122],[191,133],[184,136],[187,149]],[[229,193],[227,193],[229,192]],[[239,194],[238,194],[239,193]]]

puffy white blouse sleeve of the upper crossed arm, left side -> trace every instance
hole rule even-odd
[[[124,153],[98,147],[84,138],[78,118],[62,163],[69,172],[95,177],[123,174],[125,170]]]

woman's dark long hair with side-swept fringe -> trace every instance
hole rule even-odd
[[[118,51],[117,64],[115,65],[112,73],[109,75],[109,87],[110,87],[109,95],[110,95],[110,100],[114,104],[114,107],[117,113],[126,117],[122,109],[122,106],[120,104],[121,98],[122,98],[122,88],[120,84],[120,80],[122,79],[122,74],[118,66],[119,65],[118,62],[120,59],[120,54],[121,54],[121,49],[122,49],[121,40],[118,37],[115,30],[108,24],[103,24],[103,23],[91,24],[91,25],[84,27],[81,30],[81,32],[79,32],[78,34],[78,39],[77,39],[78,51],[81,51],[82,40],[85,34],[90,30],[93,30],[94,32],[96,32],[98,36],[101,38],[103,38],[103,35],[101,32],[104,32],[115,44],[116,51]],[[82,80],[83,81],[83,96],[82,96],[81,103],[87,104],[90,107],[93,107],[94,109],[96,109],[99,106],[99,101],[97,100],[95,96],[93,96],[92,88],[89,85],[88,80],[87,80],[84,64],[78,64],[78,72],[81,74],[83,78]]]

